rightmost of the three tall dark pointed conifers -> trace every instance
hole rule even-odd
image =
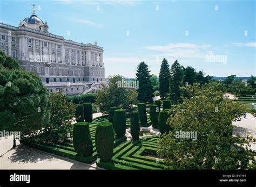
[[[170,78],[170,99],[177,105],[181,99],[180,85],[183,80],[183,71],[181,66],[176,60],[171,67],[171,78]]]

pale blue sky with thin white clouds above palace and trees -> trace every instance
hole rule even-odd
[[[51,33],[77,42],[97,40],[106,76],[134,77],[143,60],[158,75],[163,57],[206,75],[255,76],[255,2],[0,0],[0,22],[17,26],[35,3]]]

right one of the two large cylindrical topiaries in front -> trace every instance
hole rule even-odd
[[[95,145],[100,161],[111,161],[114,150],[114,131],[112,123],[103,122],[97,125]]]

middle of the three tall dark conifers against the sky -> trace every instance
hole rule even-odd
[[[166,98],[170,87],[170,69],[167,60],[164,58],[159,73],[159,93],[161,98]]]

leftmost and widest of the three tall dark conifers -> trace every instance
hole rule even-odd
[[[137,67],[137,81],[139,81],[138,100],[141,103],[152,103],[154,97],[153,86],[150,81],[149,66],[143,61]]]

